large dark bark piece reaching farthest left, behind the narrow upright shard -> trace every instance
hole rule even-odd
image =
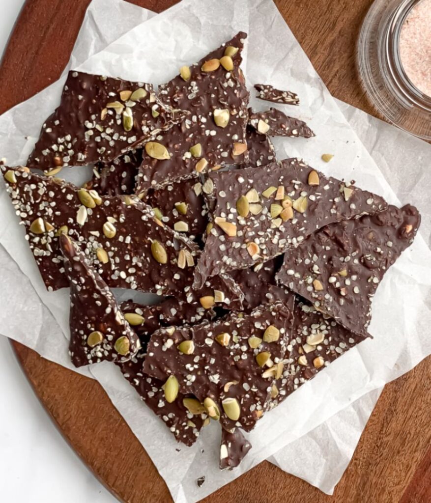
[[[28,169],[0,167],[48,290],[68,286],[58,249],[58,233],[67,230],[111,288],[182,295],[188,302],[212,296],[226,307],[241,305],[232,278],[214,278],[201,291],[191,288],[196,243],[158,221],[138,198],[103,197]]]

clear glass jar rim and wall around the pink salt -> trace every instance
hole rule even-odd
[[[378,111],[399,128],[431,140],[431,97],[413,85],[400,57],[402,26],[420,2],[429,2],[431,9],[431,0],[376,0],[361,29],[357,61]]]

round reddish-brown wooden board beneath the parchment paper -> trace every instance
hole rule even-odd
[[[89,2],[27,0],[0,68],[0,113],[59,77]],[[175,2],[134,3],[162,11]],[[356,40],[371,3],[276,1],[332,95],[375,114],[355,70]],[[12,344],[35,393],[65,439],[118,499],[128,503],[171,501],[150,458],[97,382],[44,360],[21,344]],[[332,497],[265,461],[204,501],[430,503],[430,391],[430,359],[386,386]]]

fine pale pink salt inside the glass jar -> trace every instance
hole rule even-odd
[[[422,0],[401,27],[399,50],[408,78],[431,97],[431,0]]]

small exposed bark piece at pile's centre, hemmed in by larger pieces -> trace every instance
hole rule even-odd
[[[203,234],[208,223],[208,208],[200,184],[196,187],[196,183],[196,179],[189,179],[169,184],[150,190],[144,199],[160,211],[162,222],[192,239]]]

